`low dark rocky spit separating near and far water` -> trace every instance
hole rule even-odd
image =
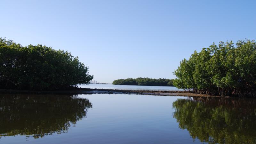
[[[0,93],[31,93],[31,94],[140,94],[158,96],[196,96],[196,97],[221,97],[214,95],[191,93],[188,91],[152,91],[152,90],[118,90],[118,89],[91,89],[71,88],[68,90],[54,91],[31,91],[31,90],[9,90],[0,89]],[[227,98],[227,96],[225,97]]]

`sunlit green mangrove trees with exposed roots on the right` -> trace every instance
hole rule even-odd
[[[256,97],[256,43],[212,44],[180,62],[174,86],[201,94]]]

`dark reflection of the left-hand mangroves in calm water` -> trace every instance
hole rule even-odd
[[[87,108],[89,100],[77,95],[0,95],[0,138],[67,132],[86,117]]]

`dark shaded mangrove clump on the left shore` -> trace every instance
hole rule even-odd
[[[89,68],[69,52],[0,37],[0,88],[55,90],[87,84]]]

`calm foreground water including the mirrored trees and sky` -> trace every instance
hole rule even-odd
[[[0,95],[0,143],[256,143],[256,101],[125,94]]]

